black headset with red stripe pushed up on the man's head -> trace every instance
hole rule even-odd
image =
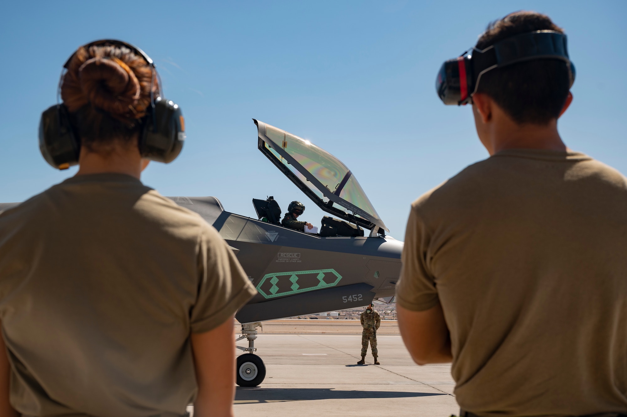
[[[575,66],[568,57],[566,35],[534,31],[503,39],[483,50],[471,48],[449,59],[440,68],[435,88],[445,105],[466,105],[472,102],[483,74],[532,59],[561,59],[568,66],[570,85],[574,83]]]

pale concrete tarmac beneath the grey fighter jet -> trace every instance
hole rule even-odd
[[[235,415],[448,417],[459,413],[450,365],[414,364],[398,327],[397,334],[377,334],[381,365],[372,364],[370,351],[367,364],[357,365],[361,326],[348,322],[352,321],[265,322],[255,347],[266,365],[266,378],[259,387],[237,388]],[[386,333],[394,332],[394,326],[396,322],[386,321]],[[298,332],[286,334],[293,331],[288,327],[297,327]],[[248,346],[245,339],[238,345]]]

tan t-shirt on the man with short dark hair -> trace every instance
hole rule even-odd
[[[400,306],[441,302],[455,394],[482,416],[627,411],[627,181],[507,150],[413,203]]]

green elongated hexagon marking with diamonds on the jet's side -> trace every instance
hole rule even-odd
[[[317,274],[315,277],[319,281],[317,285],[306,286],[306,284],[303,283],[302,279],[301,279],[301,284],[297,284],[298,279],[302,278],[303,275],[308,275],[308,274]],[[265,284],[268,278],[270,279],[270,283],[272,284],[272,286],[270,287],[270,289],[267,289],[267,286],[266,286],[266,290],[270,292],[270,294],[267,294],[266,291],[263,291],[263,289],[261,289],[261,287],[263,286],[263,284]],[[325,278],[327,278],[327,281],[329,281],[330,279],[334,279],[334,281],[327,283],[324,281]],[[314,270],[297,270],[293,272],[276,272],[274,274],[263,275],[263,278],[261,279],[259,284],[257,284],[257,291],[259,291],[260,294],[266,299],[274,298],[274,297],[291,296],[292,294],[298,294],[300,292],[314,291],[317,289],[333,287],[337,285],[338,282],[340,282],[340,279],[342,279],[342,275],[338,274],[335,271],[335,269],[314,269]],[[307,281],[311,281],[311,279],[305,279],[305,282]],[[292,282],[292,286],[289,287],[290,289],[292,289],[292,291],[280,291],[280,288],[287,289],[287,284],[289,284],[289,282]],[[277,286],[277,284],[279,284],[279,286]]]

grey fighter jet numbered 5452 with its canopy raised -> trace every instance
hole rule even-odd
[[[200,214],[231,246],[258,294],[236,314],[246,353],[238,356],[240,386],[258,386],[265,365],[254,354],[261,321],[391,302],[403,243],[386,237],[357,178],[308,140],[254,120],[259,150],[320,209],[319,234],[280,225],[278,204],[253,199],[258,219],[224,210],[216,197],[170,197]],[[16,203],[0,204],[0,210]],[[274,210],[273,210],[274,209]],[[370,230],[364,235],[364,229]]]

